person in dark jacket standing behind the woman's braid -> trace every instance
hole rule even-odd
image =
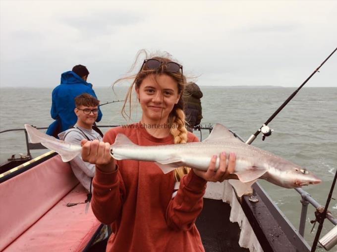
[[[201,101],[203,93],[199,86],[193,82],[186,84],[184,92],[187,130],[193,132],[193,127],[200,124],[202,119]]]

